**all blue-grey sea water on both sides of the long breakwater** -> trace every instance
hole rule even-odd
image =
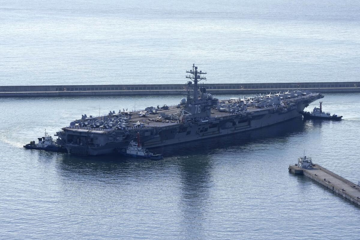
[[[211,83],[357,81],[359,6],[0,0],[0,85],[181,83],[192,63]],[[326,94],[341,122],[158,148],[160,161],[22,148],[81,114],[181,98],[0,99],[0,239],[359,238],[359,207],[287,168],[305,149],[360,181],[360,94]]]

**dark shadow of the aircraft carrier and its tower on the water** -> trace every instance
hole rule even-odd
[[[175,179],[175,182],[180,183],[178,204],[181,210],[181,234],[199,236],[205,232],[204,219],[210,208],[208,203],[214,186],[213,172],[216,159],[209,158],[209,154],[229,147],[246,148],[269,141],[281,144],[288,141],[291,136],[303,134],[308,130],[302,119],[293,119],[259,130],[158,148],[157,151],[163,151],[165,154],[165,159],[159,161],[124,158],[118,155],[78,157],[57,154],[56,168],[62,178],[75,181],[110,180],[110,184],[117,182],[136,185],[139,179]]]

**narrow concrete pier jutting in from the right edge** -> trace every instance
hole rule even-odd
[[[360,187],[336,173],[321,167],[319,164],[313,164],[313,168],[300,168],[296,165],[290,165],[289,171],[295,174],[303,174],[327,187],[333,193],[337,193],[355,205],[360,206]]]

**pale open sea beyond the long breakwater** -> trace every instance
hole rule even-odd
[[[358,1],[0,0],[0,85],[358,81]],[[226,71],[226,72],[225,72]]]

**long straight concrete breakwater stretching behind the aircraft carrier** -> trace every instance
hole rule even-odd
[[[205,84],[211,94],[269,93],[280,90],[360,92],[360,82]],[[186,94],[185,84],[0,86],[0,97]]]

